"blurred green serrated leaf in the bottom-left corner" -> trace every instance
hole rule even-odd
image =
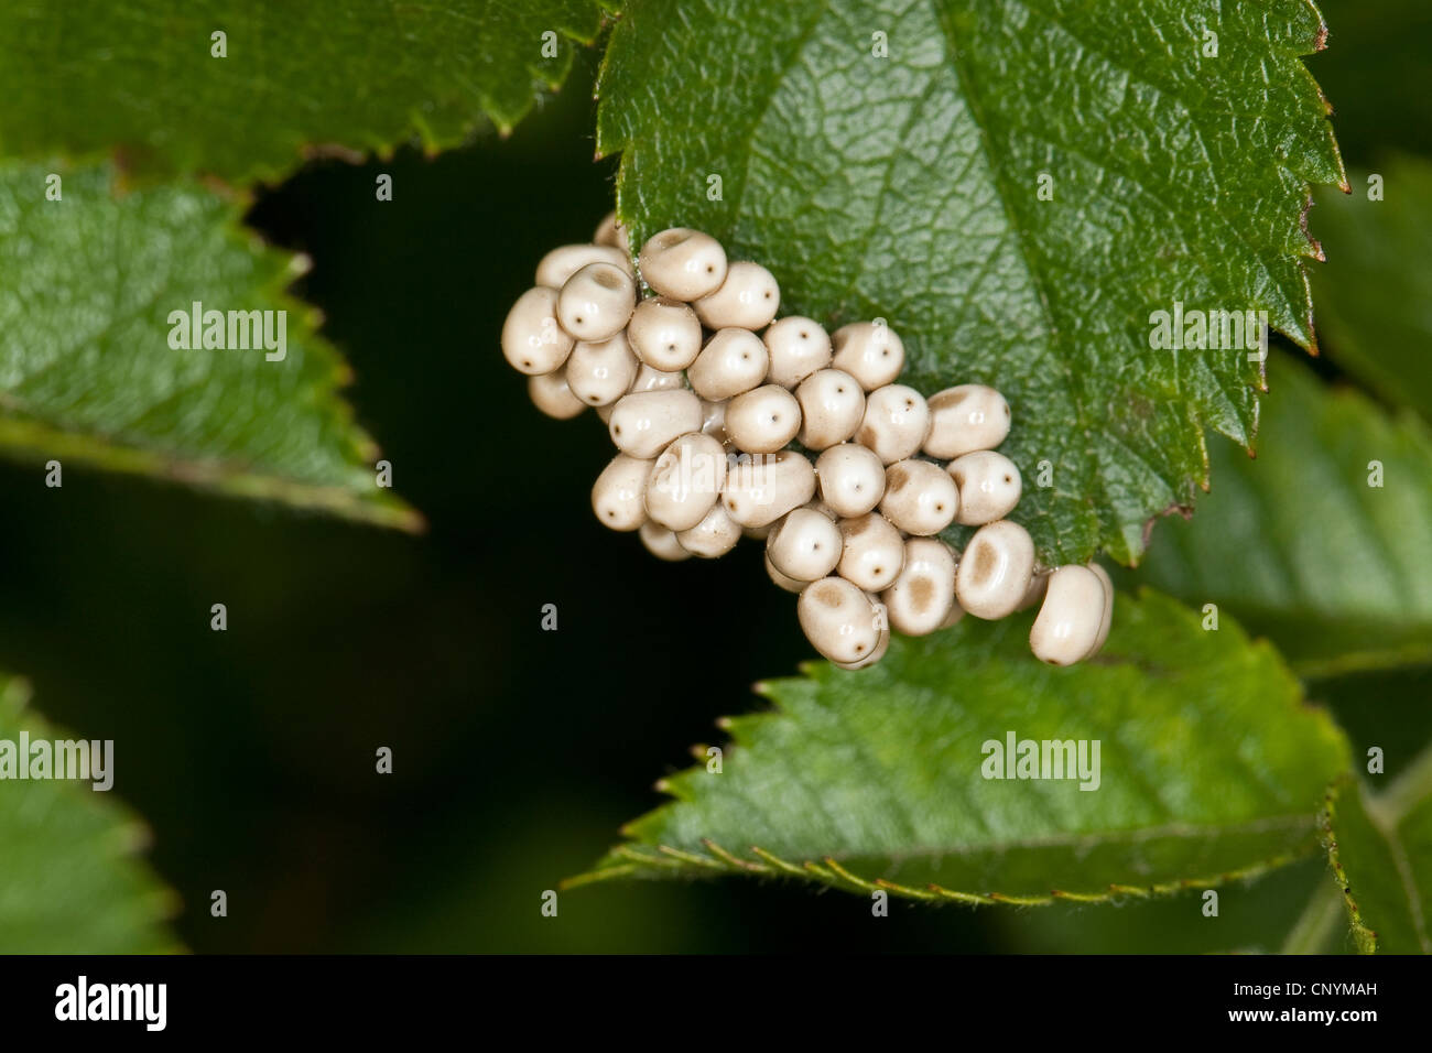
[[[26,712],[29,686],[0,675],[0,741],[72,741]],[[112,758],[113,762],[113,758]],[[119,761],[122,764],[122,759]],[[176,951],[178,898],[137,858],[149,831],[90,782],[0,779],[0,953]]]

